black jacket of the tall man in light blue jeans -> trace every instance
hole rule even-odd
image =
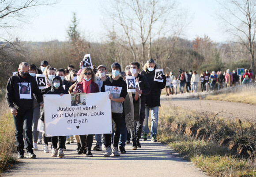
[[[151,89],[150,94],[146,95],[146,105],[149,108],[161,106],[160,105],[161,89],[164,89],[166,87],[166,76],[165,75],[162,76],[164,79],[164,81],[162,83],[154,81],[155,70],[157,69],[157,67],[158,67],[158,65],[155,64],[154,70],[149,71],[147,69],[147,66],[145,67],[145,65],[144,65],[144,70],[147,73],[145,75],[145,77],[147,78],[147,81],[148,81],[150,89]]]

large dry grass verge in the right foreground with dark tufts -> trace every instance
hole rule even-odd
[[[213,176],[256,176],[256,125],[218,115],[159,110],[158,140]]]

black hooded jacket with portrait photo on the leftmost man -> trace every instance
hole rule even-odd
[[[19,83],[30,84],[31,99],[19,98]],[[15,107],[19,111],[26,112],[27,110],[34,107],[34,96],[38,103],[42,102],[41,92],[38,88],[38,83],[33,76],[27,75],[25,78],[23,78],[19,75],[19,72],[17,72],[15,76],[11,76],[8,79],[5,99],[9,108]]]

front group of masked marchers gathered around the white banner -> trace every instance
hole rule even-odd
[[[153,59],[149,59],[140,71],[139,62],[132,62],[121,71],[118,63],[113,63],[110,72],[105,65],[83,68],[81,61],[79,70],[73,65],[67,69],[57,69],[50,66],[48,61],[42,61],[40,68],[34,64],[22,62],[19,64],[18,72],[8,79],[6,89],[6,101],[13,114],[15,123],[15,138],[18,158],[24,158],[24,148],[27,158],[35,158],[34,150],[38,150],[37,144],[43,144],[43,151],[53,157],[63,157],[66,145],[77,142],[76,151],[78,155],[85,154],[93,156],[95,151],[104,150],[104,156],[119,156],[126,153],[125,145],[131,143],[132,150],[142,148],[140,144],[143,133],[143,141],[147,141],[150,133],[151,141],[157,142],[158,108],[160,105],[161,89],[166,87],[166,76],[162,76],[163,82],[154,81],[155,70],[159,66]],[[47,80],[47,88],[39,89],[35,79],[36,74],[44,74]],[[135,92],[127,91],[125,76],[134,76],[139,84]],[[171,75],[172,76],[172,75]],[[179,79],[184,80],[184,73]],[[172,83],[174,84],[174,78]],[[177,80],[177,78],[176,78]],[[178,84],[178,80],[177,83]],[[184,84],[180,82],[181,86]],[[113,121],[112,134],[84,134],[67,135],[59,137],[45,137],[37,131],[38,120],[44,122],[44,94],[76,94],[105,92],[109,87],[118,87],[120,92],[110,92],[111,112]],[[79,99],[73,101],[78,105]],[[151,111],[151,129],[148,127],[148,117]],[[93,139],[96,144],[94,148]],[[43,139],[43,142],[42,140]],[[49,147],[49,140],[52,142]],[[120,153],[118,151],[118,146]]]

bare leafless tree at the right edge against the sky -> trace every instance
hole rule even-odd
[[[251,55],[251,68],[254,67],[254,50],[256,34],[256,1],[230,0],[219,2],[222,13],[219,17],[225,22],[226,31],[237,38]]]

